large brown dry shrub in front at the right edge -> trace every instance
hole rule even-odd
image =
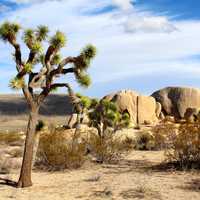
[[[200,124],[182,124],[178,131],[166,151],[167,160],[182,168],[200,168]]]

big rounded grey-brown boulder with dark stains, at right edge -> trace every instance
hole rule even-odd
[[[152,95],[162,105],[164,115],[184,118],[188,108],[200,108],[200,89],[186,87],[167,87]]]

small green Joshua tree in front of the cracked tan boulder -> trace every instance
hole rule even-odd
[[[90,125],[97,128],[99,137],[104,137],[108,128],[112,128],[115,132],[130,124],[129,114],[121,113],[115,103],[105,99],[93,104],[93,109],[89,111],[88,116]]]

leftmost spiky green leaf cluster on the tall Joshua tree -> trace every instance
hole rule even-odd
[[[5,42],[16,40],[19,30],[20,25],[16,23],[5,22],[0,26],[0,38]]]

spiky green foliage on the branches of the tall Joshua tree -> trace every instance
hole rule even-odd
[[[16,37],[20,28],[21,27],[18,24],[5,22],[0,26],[0,38],[3,41],[8,41],[14,46],[17,44]],[[38,26],[36,29],[26,29],[24,31],[22,39],[26,46],[30,49],[30,55],[27,62],[22,61],[22,63],[17,63],[16,54],[13,55],[16,63],[19,65],[18,67],[20,67],[20,71],[23,68],[23,73],[19,74],[17,78],[11,80],[10,85],[12,88],[21,89],[22,84],[20,83],[22,80],[18,79],[22,78],[26,74],[31,74],[34,65],[42,64],[42,67],[46,67],[48,70],[51,70],[51,66],[59,66],[59,64],[62,62],[59,50],[66,44],[67,39],[65,34],[57,31],[55,35],[49,39],[49,48],[46,54],[44,54],[42,53],[42,42],[48,38],[48,32],[49,30],[46,26]],[[15,48],[19,49],[20,46],[15,46]],[[91,79],[87,73],[87,69],[95,55],[96,48],[89,44],[82,49],[79,56],[74,57],[74,61],[72,62],[74,64],[74,75],[80,86],[88,87],[91,84]],[[50,67],[47,66],[49,63],[51,65]],[[39,79],[37,79],[37,81],[38,80]],[[53,89],[56,88],[54,87]]]

